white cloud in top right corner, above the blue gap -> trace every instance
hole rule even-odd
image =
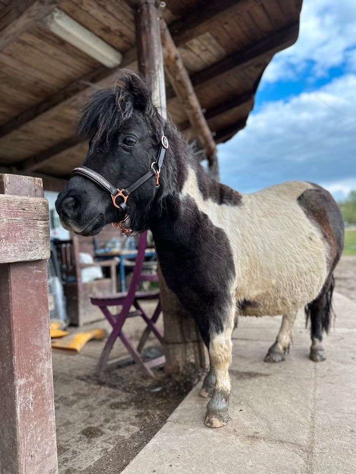
[[[347,62],[350,49],[356,47],[355,19],[355,0],[304,0],[299,38],[273,58],[262,85],[278,79],[298,79],[311,63],[313,76],[319,77]],[[355,52],[352,54],[355,58]]]

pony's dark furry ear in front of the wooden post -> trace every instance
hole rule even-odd
[[[120,87],[125,94],[131,95],[135,109],[141,110],[149,116],[157,113],[149,87],[137,74],[128,69],[122,69],[114,87]]]

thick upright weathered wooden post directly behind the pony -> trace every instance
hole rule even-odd
[[[135,1],[135,26],[138,70],[150,85],[153,100],[162,117],[166,118],[166,94],[160,18],[154,0]],[[183,372],[193,364],[206,368],[208,356],[192,318],[166,285],[160,275],[161,302],[164,319],[164,351],[167,374]]]

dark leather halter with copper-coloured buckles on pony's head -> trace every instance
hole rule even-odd
[[[89,179],[93,183],[97,184],[100,186],[104,191],[107,191],[108,193],[111,194],[111,199],[113,201],[113,204],[115,207],[122,209],[124,211],[125,218],[120,221],[120,222],[112,222],[113,227],[118,227],[120,231],[123,234],[128,234],[131,232],[131,229],[124,227],[122,223],[126,221],[126,219],[129,217],[129,215],[126,212],[127,205],[126,201],[130,194],[135,191],[137,188],[139,188],[143,183],[145,183],[151,176],[156,177],[156,188],[159,188],[159,175],[161,172],[161,167],[163,164],[163,160],[166,154],[166,150],[168,148],[168,140],[167,137],[164,135],[161,137],[161,146],[156,158],[156,161],[153,161],[151,164],[150,169],[145,173],[143,176],[137,179],[131,186],[129,186],[126,189],[119,189],[115,188],[107,179],[105,179],[101,174],[97,173],[96,171],[88,168],[87,166],[78,166],[78,168],[74,168],[72,171],[72,174],[79,174],[81,176],[84,176],[85,178]],[[116,199],[118,197],[122,197],[123,200],[120,202],[120,204],[116,203]]]

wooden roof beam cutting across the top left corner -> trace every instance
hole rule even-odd
[[[0,12],[0,51],[51,13],[60,0],[14,0]]]

